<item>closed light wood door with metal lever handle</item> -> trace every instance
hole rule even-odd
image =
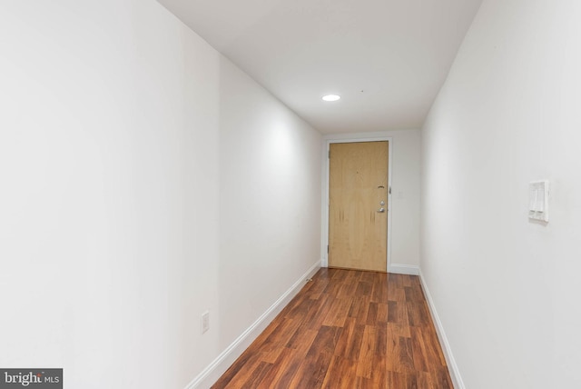
[[[387,141],[330,145],[330,267],[387,272],[388,150]]]

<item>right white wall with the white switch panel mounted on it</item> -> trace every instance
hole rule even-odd
[[[579,20],[485,0],[422,130],[420,268],[458,386],[581,387]],[[527,219],[539,179],[548,224]]]

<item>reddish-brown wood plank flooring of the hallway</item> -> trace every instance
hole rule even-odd
[[[212,388],[452,388],[419,277],[321,268]]]

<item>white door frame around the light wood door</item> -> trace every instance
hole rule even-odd
[[[321,267],[329,267],[329,252],[327,247],[329,246],[329,168],[330,168],[330,157],[329,150],[331,144],[351,144],[360,142],[388,142],[388,239],[387,239],[387,261],[386,264],[388,268],[385,269],[389,272],[391,269],[391,214],[392,214],[392,203],[391,203],[391,169],[392,169],[392,148],[393,148],[393,137],[392,136],[361,136],[357,135],[347,135],[346,137],[341,137],[340,135],[334,135],[332,137],[325,137],[324,144],[324,155],[323,155],[323,188],[322,188],[322,202],[321,204],[321,214],[322,214],[322,225],[321,225],[321,247],[320,247],[320,265]]]

